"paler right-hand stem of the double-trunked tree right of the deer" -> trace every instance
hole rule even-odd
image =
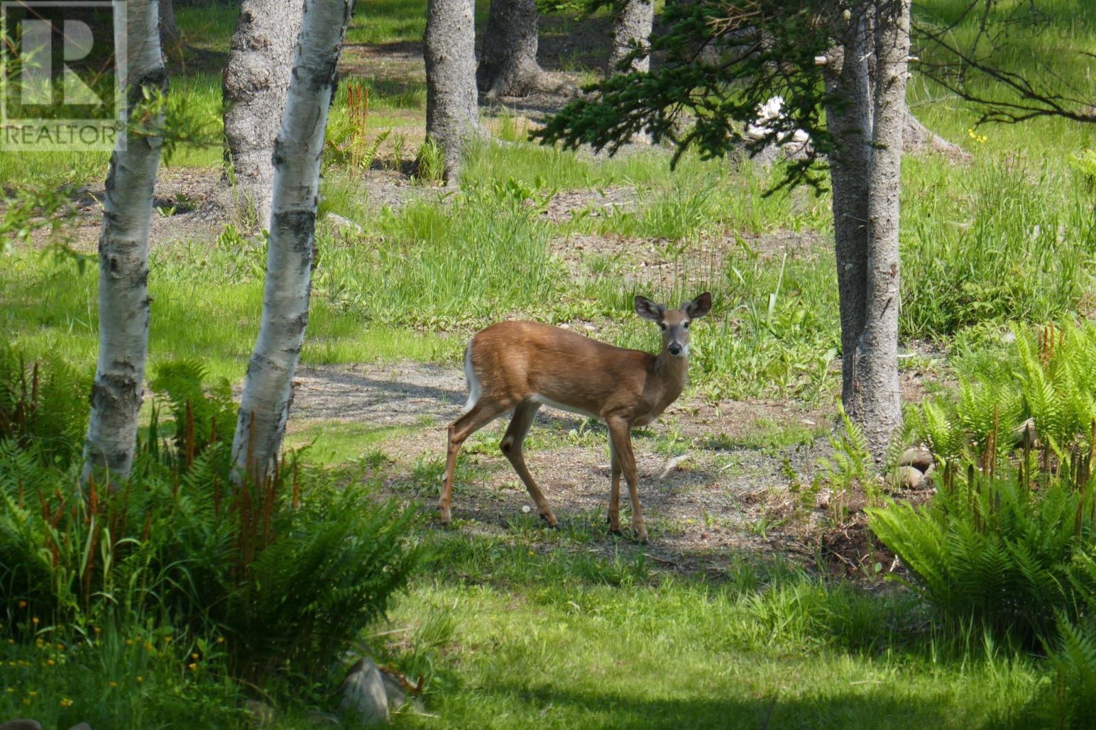
[[[877,0],[875,106],[868,178],[868,271],[864,331],[856,347],[855,413],[881,461],[902,420],[898,380],[899,193],[910,0]]]

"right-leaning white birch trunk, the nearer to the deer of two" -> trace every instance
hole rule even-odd
[[[274,145],[274,195],[263,316],[232,440],[235,478],[262,481],[276,464],[308,323],[320,152],[339,50],[353,0],[306,0],[282,130]]]

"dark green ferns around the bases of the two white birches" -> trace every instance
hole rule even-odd
[[[205,389],[201,374],[160,368],[174,435],[153,419],[121,488],[82,491],[79,464],[43,464],[36,438],[0,441],[2,623],[25,638],[39,628],[31,616],[80,631],[155,619],[221,636],[238,677],[322,680],[407,581],[411,513],[296,457],[266,483],[233,487],[216,424],[235,407],[227,384]]]

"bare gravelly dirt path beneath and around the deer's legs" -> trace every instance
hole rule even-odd
[[[385,490],[422,500],[433,512],[445,429],[464,403],[464,375],[422,363],[315,367],[298,373],[293,432],[338,433],[363,423],[390,429],[380,441],[392,460]],[[651,528],[647,552],[681,570],[722,571],[743,552],[808,557],[803,524],[790,520],[790,475],[809,475],[829,450],[807,431],[824,414],[769,402],[675,403],[636,434],[640,495]],[[470,529],[503,533],[534,526],[535,507],[498,450],[507,420],[472,436],[458,469],[454,516]],[[767,429],[768,441],[758,438]],[[778,445],[788,434],[798,443]],[[564,528],[604,521],[609,463],[605,429],[569,413],[541,409],[526,446],[529,469]],[[627,499],[624,500],[627,503]],[[637,549],[606,536],[606,555]]]

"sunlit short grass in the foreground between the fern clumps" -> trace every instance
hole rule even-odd
[[[1023,727],[1040,681],[977,631],[923,630],[902,592],[749,560],[726,581],[667,577],[632,550],[586,557],[600,524],[536,532],[430,538],[436,570],[390,647],[439,717],[400,727]]]

